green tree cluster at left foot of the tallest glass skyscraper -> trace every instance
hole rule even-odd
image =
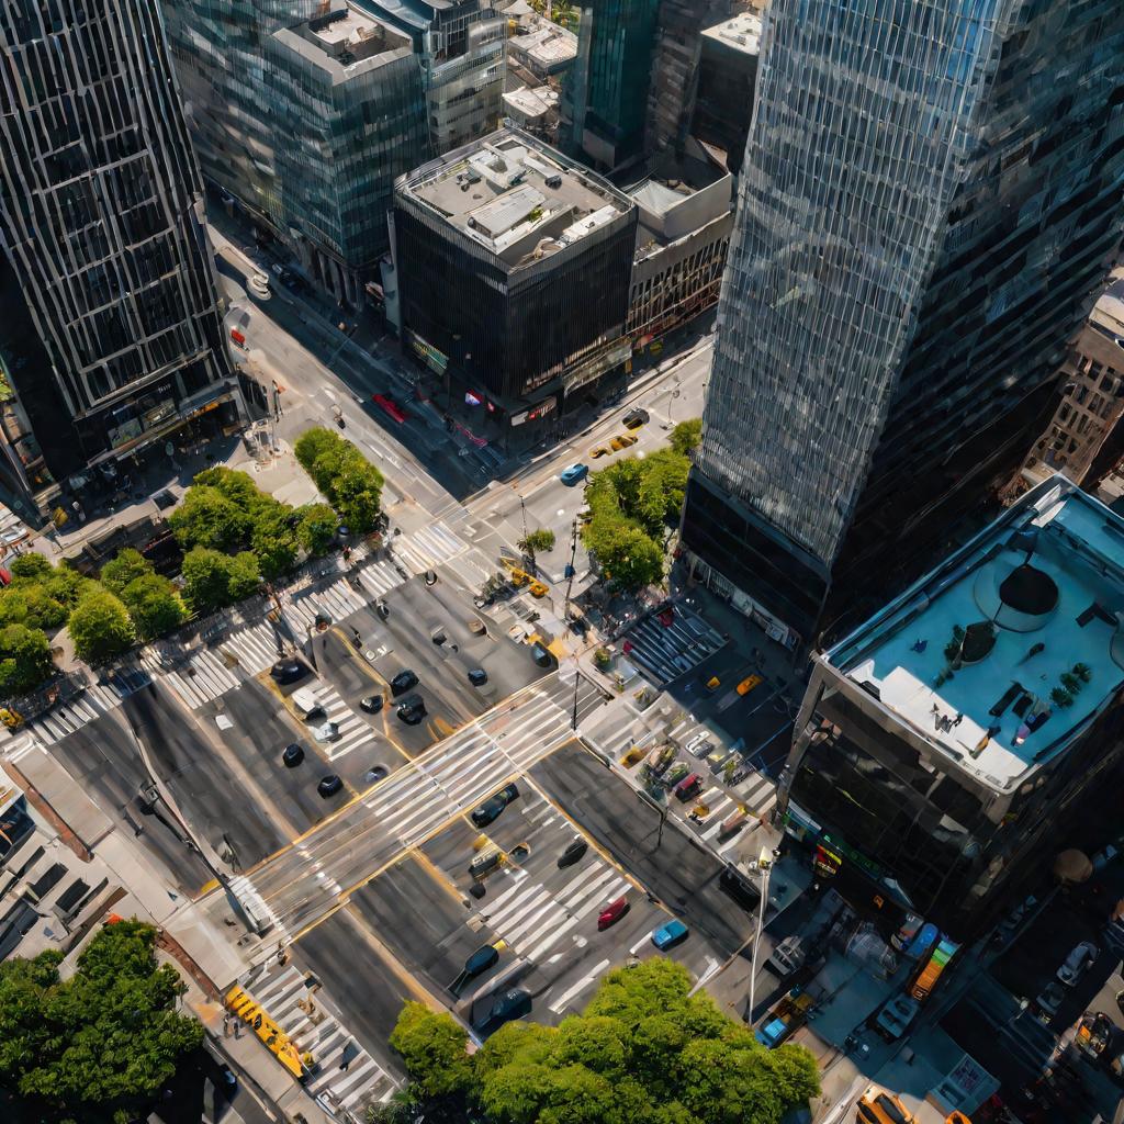
[[[663,560],[683,506],[690,451],[701,422],[680,422],[668,448],[595,472],[586,489],[590,518],[582,542],[606,578],[628,592],[663,578]]]

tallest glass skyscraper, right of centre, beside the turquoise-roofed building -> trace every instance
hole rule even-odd
[[[810,641],[1049,408],[1124,224],[1124,6],[773,0],[756,99],[683,540]]]

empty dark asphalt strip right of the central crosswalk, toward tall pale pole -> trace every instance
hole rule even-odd
[[[688,839],[670,817],[661,839],[660,814],[598,758],[571,744],[540,761],[531,774],[723,958],[745,946],[754,918],[719,888],[722,863]]]

